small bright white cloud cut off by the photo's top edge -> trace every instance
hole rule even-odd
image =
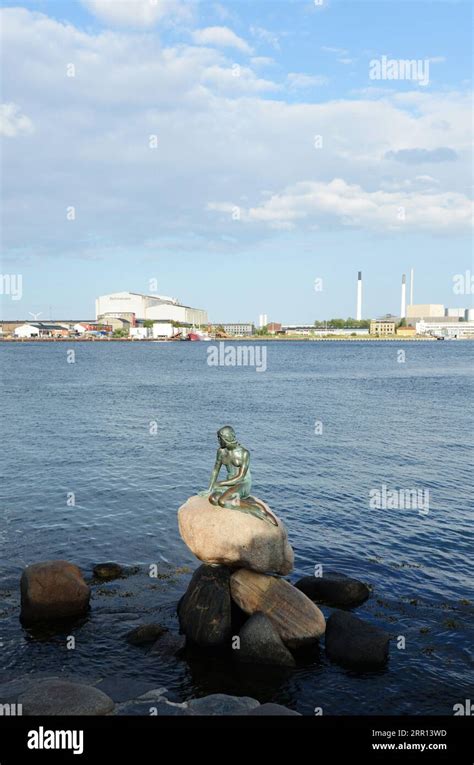
[[[125,27],[153,27],[165,16],[186,17],[189,6],[181,0],[81,0],[101,21]]]

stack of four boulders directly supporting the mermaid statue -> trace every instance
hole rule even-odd
[[[275,576],[289,574],[294,561],[286,529],[275,520],[214,506],[205,497],[191,497],[180,508],[181,536],[203,561],[178,605],[190,643],[233,648],[237,661],[292,667],[292,651],[324,634],[319,608]]]

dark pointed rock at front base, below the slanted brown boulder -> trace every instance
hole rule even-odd
[[[296,662],[270,619],[256,613],[239,632],[240,646],[233,651],[237,661],[247,664],[273,664],[294,667]]]

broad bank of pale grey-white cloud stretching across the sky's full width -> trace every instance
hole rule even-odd
[[[5,152],[5,250],[91,257],[185,231],[199,242],[237,236],[242,244],[266,238],[269,226],[384,229],[396,226],[403,200],[403,230],[466,225],[468,94],[288,103],[285,88],[252,66],[235,70],[222,50],[162,47],[143,31],[85,32],[20,8],[1,16],[4,69],[14,73],[3,95],[18,105],[6,112],[7,130],[28,133],[28,163],[22,140]],[[384,159],[440,146],[457,159],[421,167],[436,178],[436,194],[416,181],[419,165]],[[208,202],[229,200],[255,225],[203,214]],[[73,225],[63,219],[68,205],[77,209]]]

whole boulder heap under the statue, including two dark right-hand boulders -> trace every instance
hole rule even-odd
[[[331,660],[361,669],[383,666],[389,635],[340,610],[364,603],[367,585],[335,572],[295,585],[277,576],[291,572],[294,556],[276,520],[275,526],[199,496],[180,508],[181,536],[203,562],[178,604],[187,641],[203,649],[232,648],[237,661],[293,667],[298,651],[325,634]],[[338,609],[327,625],[315,602]]]

